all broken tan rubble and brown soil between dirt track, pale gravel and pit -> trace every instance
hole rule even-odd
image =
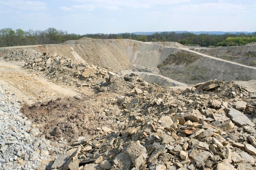
[[[32,110],[53,115],[57,106],[57,110],[71,107],[62,110],[65,114],[55,111],[52,122],[58,126],[40,129],[49,139],[70,142],[67,153],[56,158],[52,168],[256,168],[255,94],[234,82],[211,80],[186,89],[164,88],[147,84],[133,73],[119,77],[107,68],[50,53],[27,60],[24,68],[56,83],[92,88],[93,97],[104,96],[100,101],[77,98],[61,105],[60,99],[23,108],[29,117]],[[59,117],[64,121],[59,122]],[[38,124],[46,124],[47,119],[40,118],[31,116]]]

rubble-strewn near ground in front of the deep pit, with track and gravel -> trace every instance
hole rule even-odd
[[[4,170],[256,169],[255,89],[220,80],[165,88],[31,49],[1,57]]]

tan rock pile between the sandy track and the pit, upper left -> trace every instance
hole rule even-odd
[[[44,53],[29,60],[24,68],[39,71],[44,77],[55,82],[70,86],[94,86],[106,83],[110,75],[115,75],[106,68],[76,62],[56,53]]]

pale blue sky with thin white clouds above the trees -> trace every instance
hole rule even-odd
[[[256,31],[256,0],[0,0],[0,29]]]

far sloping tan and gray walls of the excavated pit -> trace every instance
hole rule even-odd
[[[252,49],[255,46],[255,44],[250,44],[243,47],[219,47],[208,54],[219,57],[219,55],[222,55],[223,51],[231,51],[232,53],[229,52],[229,55],[245,53],[246,55],[252,56],[254,55]],[[249,68],[243,65],[236,65],[234,62],[232,63],[227,60],[218,60],[215,57],[196,52],[204,51],[203,49],[200,50],[200,48],[198,48],[192,51],[177,42],[139,42],[128,39],[102,40],[82,38],[80,40],[66,41],[63,44],[38,45],[26,48],[31,48],[39,53],[57,53],[79,62],[107,68],[115,73],[129,69],[138,71],[136,67],[140,68],[140,66],[156,68],[159,64],[169,60],[168,55],[186,50],[190,53],[197,53],[196,55],[200,55],[200,58],[186,64],[177,64],[177,62],[174,61],[171,64],[159,67],[162,75],[185,84],[197,84],[210,79],[220,79],[222,81],[248,81],[256,79],[256,69],[254,67]],[[247,49],[249,50],[248,53],[246,52]],[[220,54],[218,54],[218,51],[220,51]],[[250,62],[252,62],[253,57],[254,56],[250,58]],[[179,60],[179,58],[177,58],[177,60]],[[243,60],[246,60],[246,57],[244,57]],[[186,58],[184,58],[184,61],[186,61]],[[132,66],[132,68],[129,66]],[[150,83],[157,80],[157,83],[161,82],[162,85],[166,84],[165,80],[160,81],[155,75],[146,73],[144,77],[146,77],[147,82]],[[166,84],[165,86],[169,85],[170,84]]]

